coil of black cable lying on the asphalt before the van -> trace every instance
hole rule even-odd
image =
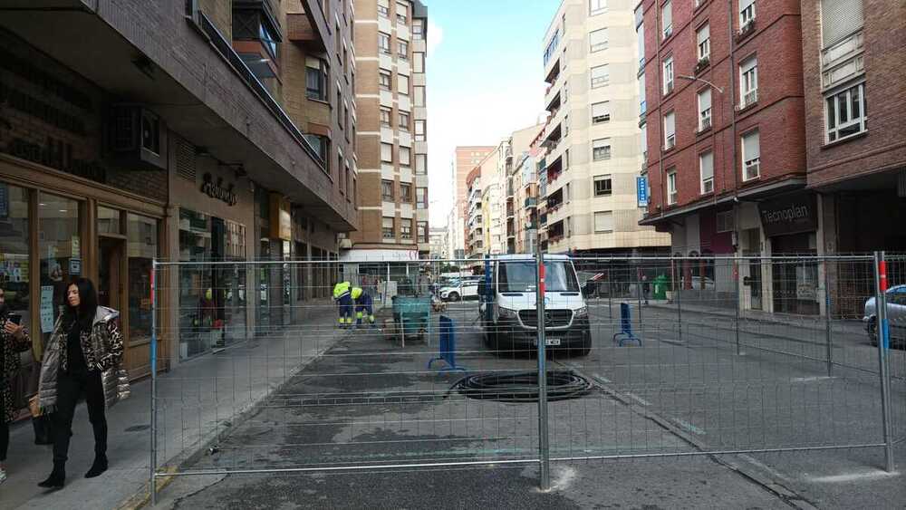
[[[547,372],[547,400],[577,399],[593,389],[591,381],[573,370]],[[538,372],[484,373],[466,376],[450,387],[469,399],[537,402]]]

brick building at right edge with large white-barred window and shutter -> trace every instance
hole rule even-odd
[[[906,251],[906,6],[802,2],[807,184],[819,253]],[[868,122],[871,115],[871,123]]]

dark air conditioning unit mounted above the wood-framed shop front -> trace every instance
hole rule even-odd
[[[111,159],[130,168],[167,169],[167,127],[153,111],[137,104],[117,104],[107,118]]]

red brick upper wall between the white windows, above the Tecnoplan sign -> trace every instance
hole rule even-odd
[[[643,3],[645,8],[645,96],[647,101],[648,161],[651,185],[649,214],[666,211],[666,184],[662,172],[676,168],[679,200],[675,206],[689,206],[728,195],[734,189],[753,188],[768,182],[804,175],[805,126],[802,99],[802,55],[799,6],[791,0],[757,0],[756,31],[737,43],[734,62],[729,51],[728,4],[706,2],[692,10],[692,3],[673,2],[673,34],[658,48],[660,40],[660,2]],[[732,10],[734,34],[737,31],[737,3]],[[696,30],[708,22],[710,64],[698,78],[712,82],[723,93],[711,91],[712,128],[697,134],[697,93],[708,87],[703,82],[675,79],[674,90],[662,94],[662,60],[673,57],[674,74],[693,75],[698,62]],[[659,55],[660,52],[660,55]],[[732,112],[739,102],[738,64],[750,55],[758,58],[758,101],[737,112],[736,135]],[[660,58],[659,58],[660,56]],[[730,85],[733,73],[734,83]],[[676,114],[676,147],[660,154],[663,146],[663,115]],[[734,150],[741,152],[740,137],[758,129],[761,146],[761,177],[742,183],[741,155],[734,161]],[[700,193],[699,154],[714,153],[715,194]],[[660,160],[662,158],[662,160]],[[661,209],[658,209],[658,206]]]

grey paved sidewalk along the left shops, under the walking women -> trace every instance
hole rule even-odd
[[[181,406],[159,415],[158,466],[172,465],[204,444],[206,433],[228,424],[230,419],[255,406],[282,381],[291,378],[304,364],[313,361],[347,332],[335,328],[333,314],[287,326],[281,331],[250,339],[217,354],[207,354],[178,364],[160,374],[159,403],[179,399]],[[241,393],[236,375],[242,375]],[[187,385],[197,381],[198,385]],[[217,399],[212,406],[195,405],[204,396],[217,395],[217,388],[234,391],[232,399]],[[173,393],[178,391],[179,393]],[[83,478],[94,457],[92,427],[83,404],[72,422],[67,479],[63,490],[45,492],[37,486],[52,465],[50,446],[34,445],[34,431],[28,420],[10,431],[7,458],[9,479],[0,486],[0,510],[11,508],[69,509],[91,502],[93,508],[118,508],[139,492],[147,492],[150,475],[151,381],[132,385],[130,399],[107,414],[110,469],[92,480]],[[183,412],[194,410],[193,425],[187,428]],[[200,434],[199,434],[200,432]],[[168,462],[169,461],[169,462]]]

